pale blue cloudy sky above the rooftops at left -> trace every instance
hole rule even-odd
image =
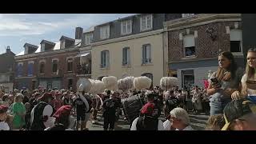
[[[42,39],[58,42],[62,35],[74,38],[75,27],[90,26],[133,14],[0,14],[0,54],[6,47],[14,54],[24,50],[26,42],[40,45]]]

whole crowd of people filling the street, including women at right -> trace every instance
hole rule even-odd
[[[245,72],[230,52],[218,56],[218,70],[209,86],[189,89],[111,91],[88,94],[72,90],[14,90],[0,93],[0,130],[88,130],[102,113],[104,130],[114,130],[120,114],[130,130],[194,130],[190,112],[210,114],[206,130],[256,130],[256,49],[247,54]],[[122,100],[137,96],[142,103],[131,118]],[[166,121],[159,120],[164,113]]]

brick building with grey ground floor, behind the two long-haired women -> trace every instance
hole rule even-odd
[[[244,67],[241,14],[186,14],[165,22],[168,72],[179,86],[203,86],[208,73],[218,69],[219,51],[231,51]],[[167,63],[167,62],[166,62]]]

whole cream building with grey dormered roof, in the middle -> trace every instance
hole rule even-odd
[[[134,14],[118,18],[83,34],[82,46],[91,47],[91,78],[147,76],[159,86],[168,68],[167,30],[163,22],[182,14]]]

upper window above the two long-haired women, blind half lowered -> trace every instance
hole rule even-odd
[[[230,52],[242,52],[242,30],[230,30]]]

